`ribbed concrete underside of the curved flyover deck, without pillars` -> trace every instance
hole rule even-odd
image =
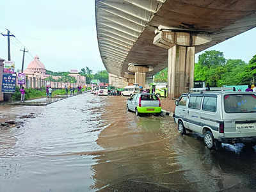
[[[168,49],[177,45],[176,33],[207,35],[207,42],[193,46],[195,53],[203,51],[254,28],[256,1],[95,0],[95,15],[106,70],[124,77],[125,72],[131,72],[129,65],[145,65],[153,69],[147,72],[152,76],[170,65]],[[172,46],[153,44],[162,31],[174,34]]]

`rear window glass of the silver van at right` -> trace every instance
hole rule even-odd
[[[225,95],[224,104],[226,113],[255,113],[256,95],[237,94]]]

